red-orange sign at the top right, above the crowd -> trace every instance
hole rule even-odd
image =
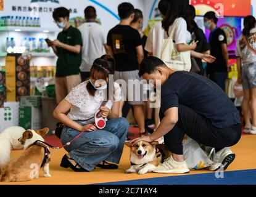
[[[197,15],[215,11],[220,17],[246,17],[251,14],[250,0],[191,0]]]

